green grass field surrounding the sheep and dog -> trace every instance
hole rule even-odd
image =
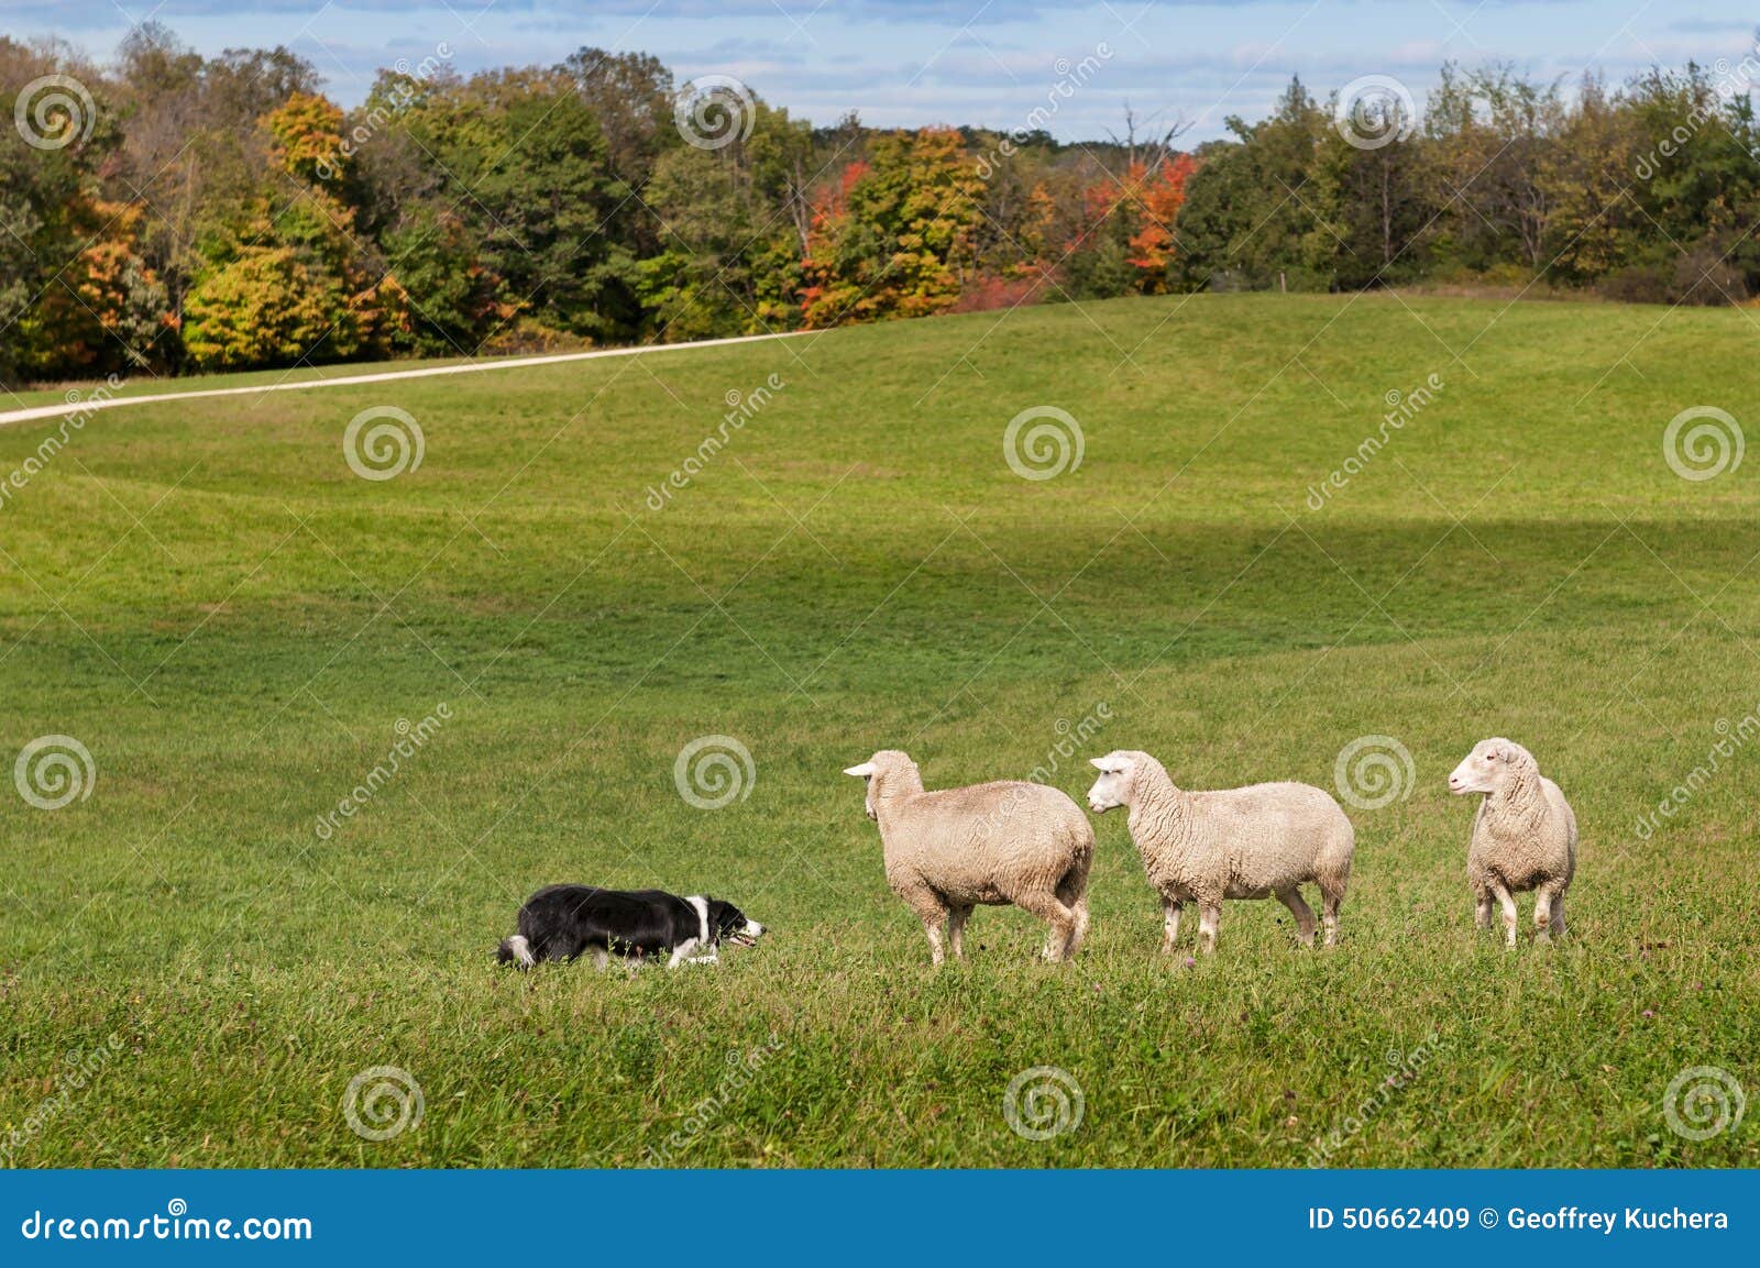
[[[0,760],[69,735],[95,769],[62,809],[0,783],[0,1157],[1760,1164],[1760,1113],[1665,1119],[1688,1068],[1760,1090],[1760,463],[1663,459],[1688,406],[1751,422],[1753,339],[1735,310],[1149,299],[100,413],[0,508]],[[387,404],[422,463],[359,478],[343,429]],[[1026,480],[1003,429],[1042,404],[1084,455]],[[49,429],[0,429],[0,477]],[[702,735],[752,754],[722,809],[674,784]],[[1364,735],[1415,779],[1350,811],[1341,944],[1236,902],[1195,966],[1195,920],[1155,955],[1112,814],[1075,964],[980,909],[931,971],[840,774],[896,746],[929,786],[1054,765],[1081,798],[1142,747],[1192,788],[1332,788]],[[1551,948],[1526,902],[1514,953],[1471,929],[1443,784],[1487,735],[1582,825]],[[496,971],[563,879],[774,934],[718,971]],[[389,1140],[343,1113],[375,1066],[422,1094]],[[1035,1066],[1084,1099],[1045,1141],[1003,1115]]]

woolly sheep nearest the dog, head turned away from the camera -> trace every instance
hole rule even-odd
[[[880,825],[885,878],[922,920],[942,964],[942,923],[954,958],[977,904],[1014,904],[1040,920],[1044,958],[1068,960],[1088,934],[1088,865],[1095,832],[1056,788],[1021,781],[924,791],[917,763],[882,749],[843,774],[868,781],[868,818]]]

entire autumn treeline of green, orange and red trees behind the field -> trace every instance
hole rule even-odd
[[[343,111],[287,49],[137,28],[99,67],[0,39],[0,382],[695,339],[1195,288],[1422,280],[1741,302],[1742,91],[1575,91],[1447,67],[1368,144],[1292,83],[1174,132],[813,127],[743,84],[581,49],[459,76],[442,46]],[[693,88],[693,91],[697,91]],[[1387,141],[1382,144],[1380,141]]]

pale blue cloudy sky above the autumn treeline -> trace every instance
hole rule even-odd
[[[97,58],[150,16],[204,53],[289,44],[343,104],[375,67],[442,46],[470,72],[597,44],[653,53],[679,79],[734,76],[817,123],[855,109],[873,125],[1016,128],[1089,58],[1086,83],[1056,98],[1054,134],[1119,132],[1128,104],[1202,141],[1228,114],[1262,114],[1292,74],[1322,97],[1378,74],[1422,98],[1447,58],[1619,81],[1651,63],[1735,63],[1760,14],[1672,0],[0,0],[5,33]]]

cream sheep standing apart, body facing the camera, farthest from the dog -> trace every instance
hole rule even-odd
[[[1515,893],[1535,892],[1535,937],[1565,932],[1565,892],[1577,874],[1577,816],[1540,774],[1533,753],[1507,739],[1480,740],[1448,776],[1456,797],[1485,793],[1473,814],[1466,881],[1473,925],[1491,929],[1491,900],[1503,906],[1503,941],[1515,946]]]

